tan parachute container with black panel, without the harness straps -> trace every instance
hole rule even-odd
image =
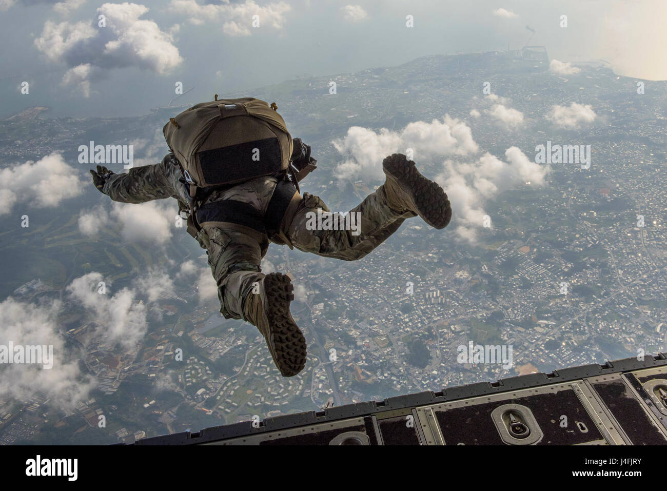
[[[162,131],[197,187],[243,182],[289,167],[292,139],[273,107],[254,97],[216,95],[170,118]]]

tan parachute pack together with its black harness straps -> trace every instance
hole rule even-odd
[[[183,169],[193,198],[187,222],[187,231],[193,237],[201,230],[199,223],[209,221],[211,214],[218,218],[225,215],[225,220],[231,221],[231,215],[236,221],[243,221],[245,216],[248,223],[259,223],[257,217],[251,216],[255,211],[242,202],[225,201],[200,208],[197,200],[202,193],[285,171],[271,197],[267,223],[259,227],[261,231],[279,231],[283,213],[298,190],[298,181],[317,166],[309,147],[298,138],[292,140],[275,103],[269,106],[254,97],[218,99],[215,95],[215,100],[193,105],[169,118],[162,132]],[[198,190],[202,193],[198,194]]]

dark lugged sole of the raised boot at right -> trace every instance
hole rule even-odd
[[[452,206],[447,194],[438,183],[426,179],[414,161],[402,153],[394,153],[382,161],[382,169],[412,196],[414,211],[426,223],[436,229],[443,229],[450,223]]]

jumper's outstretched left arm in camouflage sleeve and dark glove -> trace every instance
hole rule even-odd
[[[182,184],[179,183],[181,169],[171,153],[160,163],[133,167],[127,173],[115,174],[106,167],[91,170],[95,187],[109,195],[113,201],[122,203],[144,203],[166,197],[179,198]]]

